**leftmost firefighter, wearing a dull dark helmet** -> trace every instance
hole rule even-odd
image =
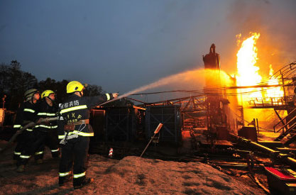
[[[36,120],[36,112],[35,107],[36,103],[40,98],[39,91],[37,89],[29,89],[24,94],[24,102],[18,108],[18,112],[16,115],[16,122],[13,125],[13,128],[16,130],[20,130],[23,126],[30,122],[35,122]],[[28,139],[33,134],[33,128],[27,128],[26,130],[18,135],[17,145],[13,153],[13,160],[20,160],[21,152],[23,148],[26,146]]]

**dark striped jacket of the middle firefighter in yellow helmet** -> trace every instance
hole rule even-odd
[[[39,118],[55,118],[57,116],[57,106],[48,105],[45,100],[41,101],[36,106],[37,119]],[[48,121],[47,123],[38,124],[35,126],[37,130],[48,132],[49,130],[57,130],[57,121]]]

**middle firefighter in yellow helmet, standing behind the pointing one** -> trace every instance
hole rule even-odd
[[[55,104],[55,92],[45,90],[41,94],[42,101],[37,106],[37,118],[55,118],[57,116],[57,105]],[[57,122],[50,121],[48,123],[35,126],[38,133],[38,139],[35,140],[33,147],[36,148],[35,159],[37,164],[43,162],[45,145],[50,148],[53,157],[59,157],[59,144],[57,142]]]

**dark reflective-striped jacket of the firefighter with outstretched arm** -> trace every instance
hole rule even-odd
[[[61,117],[57,121],[58,138],[63,139],[67,134],[63,128],[64,125],[89,119],[90,108],[102,104],[104,101],[109,101],[110,99],[113,99],[112,94],[81,97],[75,94],[70,95],[62,104],[60,104]],[[80,136],[94,136],[94,131],[89,124],[81,124],[76,125],[75,130],[68,133],[68,135],[73,134]]]

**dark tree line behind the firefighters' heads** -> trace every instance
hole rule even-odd
[[[17,60],[12,60],[10,65],[2,63],[0,65],[0,96],[6,95],[6,108],[16,110],[23,102],[23,94],[28,89],[39,89],[40,93],[45,90],[55,91],[55,101],[60,103],[67,98],[67,84],[69,81],[55,81],[55,79],[47,78],[44,81],[38,82],[36,77],[21,70],[21,64]],[[101,86],[89,84],[84,90],[84,96],[99,96],[106,92]],[[128,99],[112,101],[105,106],[131,106],[133,103]]]

